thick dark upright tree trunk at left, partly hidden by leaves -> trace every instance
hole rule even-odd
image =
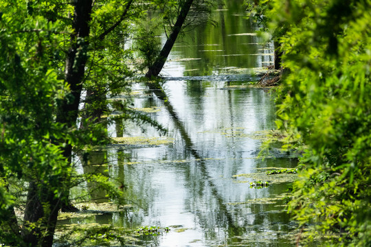
[[[87,63],[87,47],[89,43],[86,38],[89,36],[89,21],[91,20],[92,0],[74,1],[74,21],[72,27],[74,34],[71,34],[71,46],[67,53],[65,65],[65,80],[71,89],[71,95],[64,99],[58,106],[56,121],[65,124],[68,129],[76,126],[78,117],[78,105],[82,91],[82,81],[85,75],[85,65]],[[71,100],[72,99],[72,100]],[[71,162],[71,144],[63,150],[63,156]],[[66,178],[54,178],[52,183],[58,183],[63,188]],[[54,230],[58,217],[61,202],[66,198],[68,191],[63,191],[60,198],[56,198],[54,189],[48,186],[49,183],[38,184],[30,183],[25,207],[23,228],[23,239],[29,246],[51,247],[53,244]],[[32,224],[39,224],[32,228]]]

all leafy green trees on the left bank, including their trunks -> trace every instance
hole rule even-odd
[[[130,99],[106,99],[130,91],[124,43],[144,10],[132,3],[1,1],[0,245],[51,246],[58,211],[79,183],[120,199],[106,174],[75,172],[76,161],[84,165],[92,146],[107,141],[113,118],[103,114],[119,110],[115,120],[164,130],[128,108]]]

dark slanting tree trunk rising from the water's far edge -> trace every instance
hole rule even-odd
[[[177,40],[179,32],[181,31],[181,27],[183,26],[184,21],[186,21],[188,12],[192,6],[193,0],[187,0],[181,8],[179,16],[177,18],[177,22],[175,23],[174,27],[172,28],[172,33],[166,40],[164,47],[162,47],[159,56],[155,60],[155,62],[148,68],[148,72],[146,73],[147,78],[152,78],[153,76],[159,75],[162,67],[168,59],[170,51]]]

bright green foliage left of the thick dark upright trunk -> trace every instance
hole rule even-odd
[[[49,6],[43,5],[47,12]],[[12,224],[13,206],[22,205],[15,200],[24,200],[27,189],[23,184],[54,187],[58,195],[63,191],[63,186],[60,190],[56,187],[58,178],[69,174],[58,147],[72,132],[63,131],[63,125],[54,121],[56,106],[67,96],[69,86],[59,76],[58,61],[51,59],[59,53],[62,40],[58,34],[69,30],[60,21],[48,21],[31,3],[2,2],[1,10],[0,174],[5,198],[13,200],[1,204],[0,237],[2,243],[16,245],[21,236],[16,234],[20,228]],[[46,194],[43,189],[38,191],[45,208]]]

